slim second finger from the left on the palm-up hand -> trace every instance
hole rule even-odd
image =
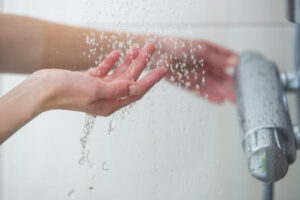
[[[133,60],[138,56],[139,51],[140,50],[137,47],[133,46],[130,49],[129,53],[126,55],[123,63],[121,63],[111,75],[105,77],[105,80],[111,81],[120,76],[124,71],[126,71],[126,69],[131,65]]]

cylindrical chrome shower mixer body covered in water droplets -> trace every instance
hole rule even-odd
[[[262,55],[241,55],[235,74],[241,138],[251,174],[275,182],[296,159],[296,144],[275,63]]]

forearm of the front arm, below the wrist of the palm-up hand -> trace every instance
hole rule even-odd
[[[0,98],[0,144],[43,111],[49,88],[27,79]]]

